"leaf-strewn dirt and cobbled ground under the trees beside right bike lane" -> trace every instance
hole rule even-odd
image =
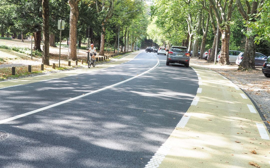
[[[264,76],[262,67],[256,67],[256,70],[249,72],[240,72],[236,64],[214,65],[214,63],[207,63],[207,60],[197,58],[191,58],[191,63],[218,72],[238,85],[255,102],[265,118],[263,121],[270,126],[270,78]]]

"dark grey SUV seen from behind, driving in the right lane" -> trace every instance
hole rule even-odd
[[[190,53],[188,53],[187,47],[172,46],[170,50],[167,49],[166,51],[168,52],[166,65],[179,63],[189,67]]]

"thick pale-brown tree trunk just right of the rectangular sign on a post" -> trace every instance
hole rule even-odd
[[[73,61],[77,60],[77,22],[79,16],[78,0],[69,0],[70,6],[69,15],[69,48],[68,48],[68,59]]]

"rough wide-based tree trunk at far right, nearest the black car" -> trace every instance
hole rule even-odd
[[[252,31],[250,27],[248,27],[247,32]],[[256,45],[254,44],[255,36],[247,36],[246,37],[246,44],[245,44],[245,51],[243,55],[243,60],[238,67],[238,70],[246,71],[255,69],[255,50]]]

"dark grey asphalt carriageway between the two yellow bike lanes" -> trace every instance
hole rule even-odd
[[[115,87],[0,124],[0,167],[144,167],[190,107],[194,70],[140,53],[98,73],[0,90],[0,120],[150,72]]]

